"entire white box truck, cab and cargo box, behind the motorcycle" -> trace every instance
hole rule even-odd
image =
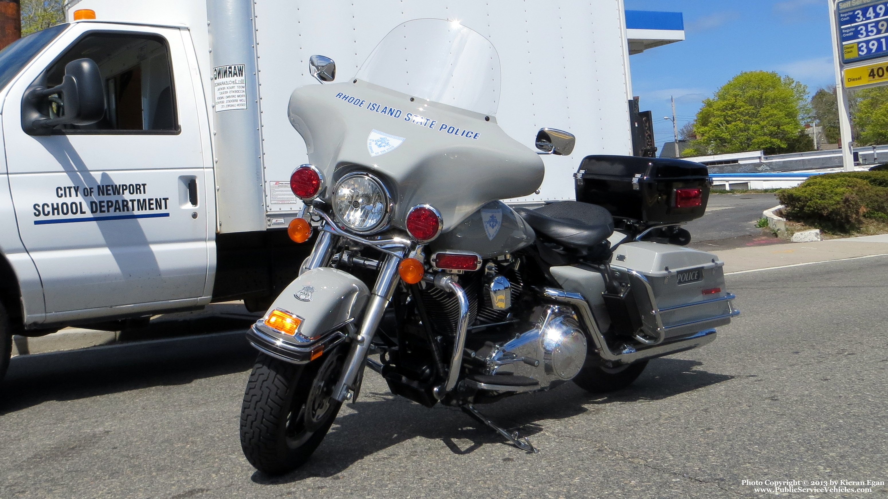
[[[290,92],[320,84],[311,55],[351,78],[419,18],[493,41],[511,137],[576,135],[574,154],[545,156],[543,187],[516,201],[573,199],[583,156],[632,154],[622,0],[70,1],[67,23],[0,53],[0,372],[11,334],[269,303],[311,248],[285,230],[301,209],[289,176],[306,157]],[[66,72],[88,71],[83,59],[104,102],[76,101]],[[90,106],[100,119],[78,119]]]

